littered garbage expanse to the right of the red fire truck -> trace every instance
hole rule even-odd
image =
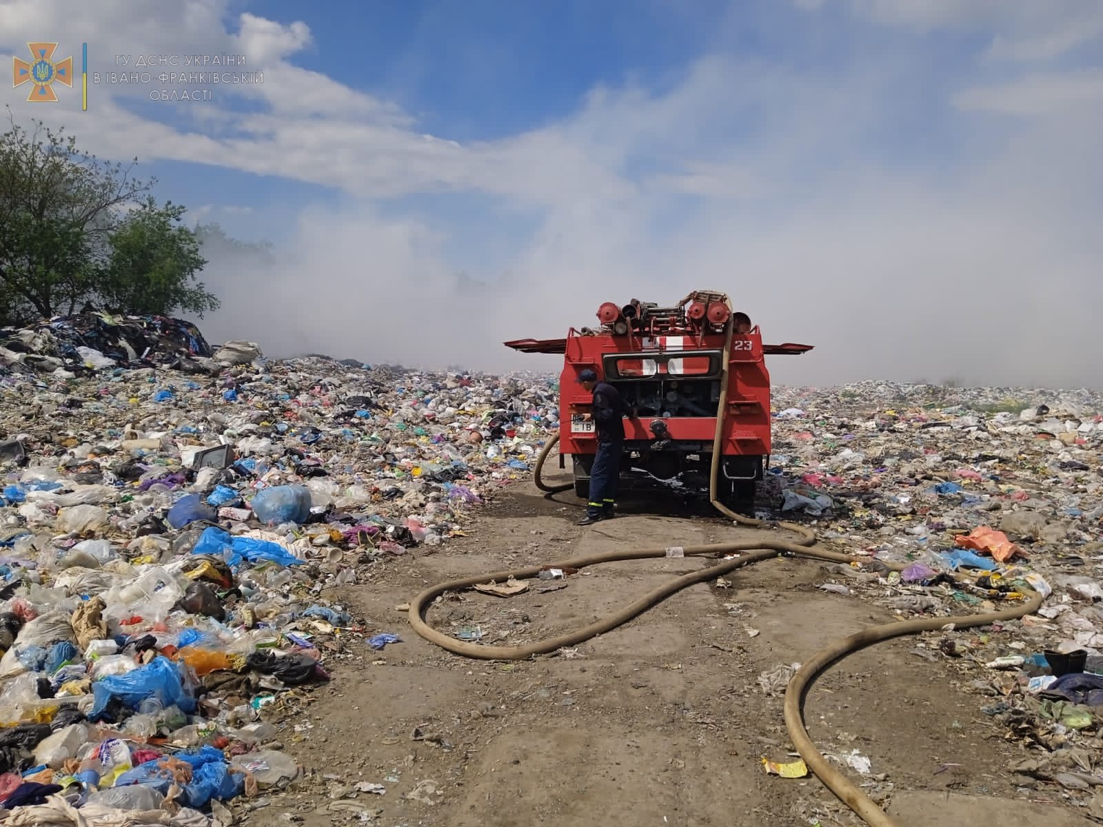
[[[760,516],[800,519],[861,566],[821,588],[899,615],[1037,614],[923,636],[1029,758],[1009,772],[1103,818],[1103,396],[861,383],[778,389]],[[884,561],[908,563],[890,572]]]

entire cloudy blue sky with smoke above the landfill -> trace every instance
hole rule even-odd
[[[781,380],[1103,385],[1096,0],[83,8],[6,4],[0,52],[265,73],[210,104],[100,85],[87,112],[64,89],[34,110],[276,245],[275,266],[212,260],[213,339],[545,367],[501,341],[716,287],[767,339],[817,345]],[[1048,347],[1008,335],[1026,314]]]

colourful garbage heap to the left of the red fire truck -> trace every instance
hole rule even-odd
[[[298,775],[267,708],[397,642],[325,590],[462,534],[557,427],[555,387],[97,319],[0,351],[0,805],[208,824]]]

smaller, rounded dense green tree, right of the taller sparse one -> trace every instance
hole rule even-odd
[[[195,233],[181,224],[184,207],[153,198],[133,210],[108,238],[110,255],[97,293],[110,310],[167,315],[203,314],[219,302],[196,273],[206,259]]]

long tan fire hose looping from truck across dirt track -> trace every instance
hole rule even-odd
[[[719,411],[724,411],[727,400],[728,388],[728,364],[731,351],[732,325],[728,324],[728,335],[724,347],[724,374],[720,382]],[[733,519],[736,523],[756,528],[769,528],[770,524],[762,520],[745,517],[727,508],[717,497],[717,476],[720,463],[720,443],[722,439],[722,414],[717,417],[716,437],[713,445],[713,464],[709,480],[709,500],[719,512]],[[540,491],[555,493],[566,491],[571,485],[548,485],[542,477],[544,462],[552,449],[558,443],[559,436],[552,437],[540,451],[534,469],[536,486]],[[647,609],[656,605],[661,601],[681,591],[687,586],[715,580],[730,571],[760,560],[767,560],[781,556],[805,557],[814,560],[824,560],[838,563],[861,563],[868,558],[845,555],[838,551],[829,551],[820,548],[808,548],[816,539],[815,535],[804,526],[794,523],[780,522],[780,528],[788,528],[802,535],[800,541],[786,541],[780,539],[743,540],[739,543],[717,543],[702,546],[687,546],[681,549],[681,555],[685,557],[696,557],[702,555],[739,555],[735,559],[721,560],[715,566],[710,566],[698,571],[683,574],[671,580],[668,583],[654,589],[653,591],[639,598],[623,609],[613,612],[601,620],[583,626],[574,632],[567,632],[556,637],[544,641],[536,641],[520,646],[484,646],[475,643],[465,643],[450,637],[432,629],[424,619],[429,604],[446,592],[468,589],[479,583],[489,581],[504,581],[513,578],[524,580],[534,578],[540,571],[548,568],[575,569],[579,570],[587,566],[596,566],[602,562],[614,562],[618,560],[642,560],[658,557],[668,557],[671,550],[666,548],[651,548],[642,550],[607,551],[597,555],[576,557],[561,562],[548,563],[545,566],[529,566],[520,569],[495,571],[488,574],[476,574],[474,577],[457,578],[447,582],[437,583],[429,587],[413,601],[409,608],[409,622],[414,631],[426,641],[433,643],[441,648],[452,652],[463,657],[471,657],[484,660],[518,660],[534,655],[549,654],[565,646],[574,646],[617,629],[632,619],[639,616]],[[890,570],[901,571],[904,563],[886,562]],[[1025,599],[1018,605],[999,612],[988,612],[985,614],[970,614],[950,617],[917,617],[908,621],[887,623],[879,626],[868,626],[848,637],[837,640],[825,648],[816,652],[811,659],[802,664],[800,669],[790,679],[785,688],[783,702],[783,715],[789,738],[796,749],[796,752],[804,760],[808,770],[823,782],[824,786],[832,791],[844,804],[857,814],[870,827],[898,827],[897,821],[890,818],[876,802],[866,795],[854,782],[846,777],[839,770],[832,766],[826,758],[816,750],[804,724],[804,699],[808,689],[821,673],[829,666],[843,659],[847,655],[859,649],[871,646],[875,643],[887,641],[902,635],[931,632],[940,629],[970,629],[974,626],[985,626],[1002,621],[1015,620],[1038,610],[1041,605],[1042,597],[1036,591],[1024,588]]]

